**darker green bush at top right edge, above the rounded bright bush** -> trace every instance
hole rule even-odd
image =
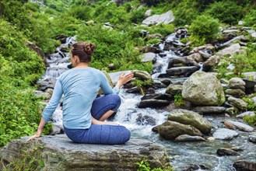
[[[243,7],[234,1],[214,2],[205,13],[228,24],[237,24],[244,15]]]

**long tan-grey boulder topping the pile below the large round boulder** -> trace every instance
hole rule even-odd
[[[172,110],[168,116],[168,120],[175,121],[181,124],[188,124],[204,134],[209,134],[212,129],[212,125],[202,117],[200,114],[190,110]]]

